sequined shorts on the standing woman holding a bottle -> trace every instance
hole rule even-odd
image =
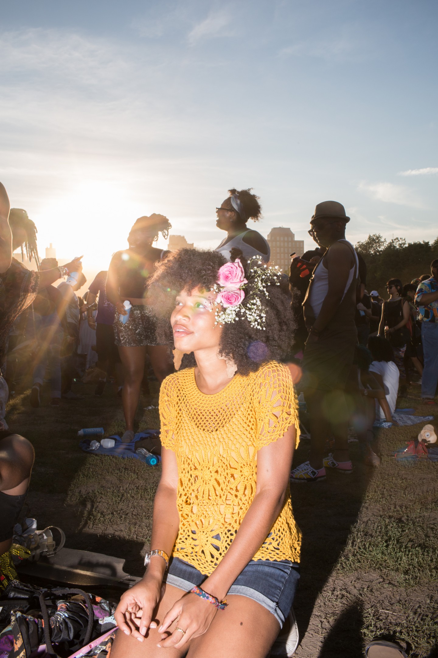
[[[114,342],[121,347],[144,347],[158,345],[156,318],[148,306],[133,306],[125,324],[116,313],[114,318]]]

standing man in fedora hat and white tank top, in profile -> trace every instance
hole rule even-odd
[[[318,203],[309,234],[326,252],[316,266],[303,301],[309,338],[304,350],[303,389],[310,415],[309,461],[291,473],[292,482],[317,482],[326,468],[350,473],[348,453],[349,411],[345,384],[355,354],[356,288],[359,261],[353,245],[345,240],[350,218],[338,201]],[[334,453],[325,455],[329,430],[335,438]]]

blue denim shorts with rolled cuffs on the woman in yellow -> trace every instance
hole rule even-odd
[[[173,557],[164,582],[190,592],[195,585],[201,587],[207,577],[179,557]],[[252,560],[234,580],[228,594],[239,594],[257,601],[273,613],[282,628],[294,603],[298,581],[299,565],[295,562]]]

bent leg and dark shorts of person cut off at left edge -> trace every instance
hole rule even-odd
[[[0,431],[0,592],[17,578],[12,562],[12,534],[28,493],[34,459],[32,443],[24,436]]]

